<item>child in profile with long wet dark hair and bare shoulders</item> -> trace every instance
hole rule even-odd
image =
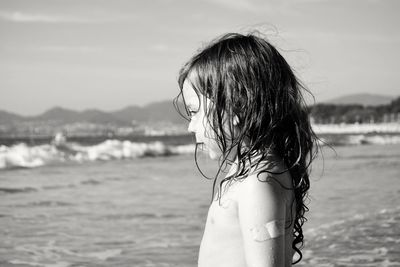
[[[299,262],[316,136],[288,63],[263,38],[227,34],[183,66],[179,86],[195,155],[219,161],[198,265]]]

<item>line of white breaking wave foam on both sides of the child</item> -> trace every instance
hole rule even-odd
[[[400,134],[334,134],[331,136],[323,135],[324,132],[327,131],[321,131],[321,140],[333,145],[400,144]],[[20,143],[10,147],[0,146],[0,169],[34,168],[52,162],[64,161],[107,161],[148,156],[181,155],[191,154],[194,150],[194,144],[169,146],[161,141],[139,143],[128,140],[106,140],[93,146],[82,146],[68,142],[53,142],[52,144],[37,146]]]

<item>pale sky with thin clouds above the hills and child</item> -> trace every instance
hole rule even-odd
[[[316,102],[399,96],[399,12],[398,0],[0,0],[0,110],[169,100],[198,49],[255,30]]]

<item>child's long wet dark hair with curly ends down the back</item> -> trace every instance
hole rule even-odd
[[[199,97],[209,101],[204,105],[205,116],[222,151],[213,189],[232,151],[237,153],[238,168],[220,182],[220,188],[225,181],[244,179],[252,167],[268,162],[271,154],[283,160],[286,169],[282,172],[263,172],[291,175],[292,187],[286,189],[294,191],[292,248],[299,254],[294,264],[298,263],[304,243],[302,226],[307,220],[310,164],[318,150],[302,94],[309,91],[277,49],[256,34],[223,35],[182,67],[178,79],[181,91],[174,104],[180,114],[189,115],[186,105],[186,113],[179,105],[180,100],[185,104],[185,80],[191,82]],[[226,116],[236,116],[237,125],[232,119],[226,121]]]

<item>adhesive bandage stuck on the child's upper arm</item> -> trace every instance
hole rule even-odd
[[[250,228],[255,241],[266,241],[285,235],[285,220],[270,221],[263,225]]]

